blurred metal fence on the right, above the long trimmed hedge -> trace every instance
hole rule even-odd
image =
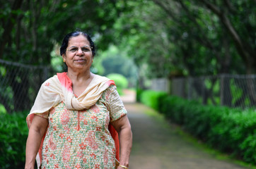
[[[256,107],[256,75],[173,78],[170,93],[202,104]]]

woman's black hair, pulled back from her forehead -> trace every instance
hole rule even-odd
[[[62,54],[66,53],[66,48],[67,48],[67,46],[69,46],[69,39],[71,37],[78,37],[78,35],[83,35],[84,37],[86,37],[86,39],[88,39],[88,42],[90,42],[91,51],[93,52],[93,57],[94,57],[95,54],[96,54],[96,52],[95,52],[95,44],[94,44],[93,40],[91,39],[90,35],[88,35],[86,32],[83,32],[81,30],[76,30],[74,32],[70,32],[69,34],[67,34],[64,37],[64,39],[62,41],[62,46],[59,49],[60,55],[62,56]]]

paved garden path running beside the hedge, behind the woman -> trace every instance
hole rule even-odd
[[[133,132],[130,169],[244,169],[231,161],[216,159],[156,111],[134,103],[132,93],[127,94],[122,100]]]

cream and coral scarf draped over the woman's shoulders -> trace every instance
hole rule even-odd
[[[28,128],[30,128],[35,113],[45,113],[62,101],[66,105],[66,108],[71,110],[79,111],[85,108],[90,108],[96,104],[98,99],[100,99],[101,94],[103,94],[105,89],[110,87],[111,84],[115,85],[115,82],[109,80],[107,77],[94,75],[93,80],[86,90],[80,96],[76,97],[73,93],[72,82],[66,73],[57,73],[57,75],[50,77],[50,79],[46,80],[41,85],[35,103],[26,118]],[[116,158],[119,161],[118,134],[112,125],[109,125],[109,130],[111,136],[115,140]],[[36,157],[38,167],[42,161],[42,143],[44,139],[45,136],[42,138],[40,149]]]

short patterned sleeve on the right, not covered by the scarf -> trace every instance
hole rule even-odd
[[[109,95],[109,107],[110,107],[110,121],[115,121],[122,116],[127,114],[126,108],[117,92],[117,87],[115,85],[110,86],[110,95]]]

